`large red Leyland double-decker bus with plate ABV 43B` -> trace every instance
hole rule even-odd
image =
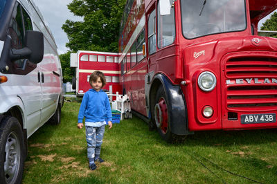
[[[129,0],[120,83],[167,141],[193,131],[277,128],[277,39],[258,22],[277,0]]]

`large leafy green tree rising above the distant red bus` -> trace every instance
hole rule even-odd
[[[67,6],[83,21],[66,20],[66,46],[77,50],[118,52],[118,31],[126,0],[73,0]]]

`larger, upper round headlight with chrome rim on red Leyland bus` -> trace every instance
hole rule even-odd
[[[216,85],[216,78],[209,71],[202,72],[198,77],[198,86],[203,91],[212,91]]]

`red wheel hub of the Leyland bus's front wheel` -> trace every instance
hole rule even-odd
[[[168,108],[166,107],[166,100],[161,98],[155,105],[154,112],[157,127],[161,129],[163,134],[166,134],[168,131]]]

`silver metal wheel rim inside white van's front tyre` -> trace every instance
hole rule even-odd
[[[8,136],[5,155],[4,172],[6,183],[14,183],[12,180],[17,178],[20,163],[20,145],[15,132],[11,132]]]

